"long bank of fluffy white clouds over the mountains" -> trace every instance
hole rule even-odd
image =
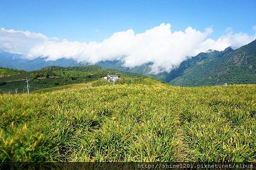
[[[171,25],[163,23],[140,34],[128,29],[116,32],[102,42],[80,43],[2,28],[0,51],[23,54],[29,59],[45,57],[48,61],[55,61],[72,58],[90,64],[122,59],[126,67],[151,62],[152,71],[157,73],[170,71],[187,56],[195,56],[209,49],[222,51],[228,46],[236,49],[256,39],[256,34],[234,34],[231,29],[217,40],[207,38],[212,32],[212,28],[200,32],[190,26],[184,32],[172,32]]]

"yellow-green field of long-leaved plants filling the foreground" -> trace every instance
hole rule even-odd
[[[256,161],[256,85],[0,95],[0,161]]]

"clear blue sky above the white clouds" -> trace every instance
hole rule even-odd
[[[233,32],[254,34],[255,0],[1,0],[0,27],[40,32],[70,41],[102,41],[114,32],[145,32],[160,23],[173,31],[188,26],[204,31],[212,26],[213,39]],[[97,30],[97,31],[96,31]]]

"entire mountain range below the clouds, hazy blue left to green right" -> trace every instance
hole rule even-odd
[[[45,58],[28,60],[22,55],[0,52],[0,66],[25,69],[28,71],[45,66],[83,66],[73,59],[61,58],[56,61],[45,61]],[[152,63],[127,68],[123,61],[101,61],[96,63],[106,69],[134,72],[153,76],[175,86],[205,86],[223,84],[256,84],[256,40],[233,50],[228,47],[224,51],[209,50],[194,57],[188,57],[171,72],[151,73]]]

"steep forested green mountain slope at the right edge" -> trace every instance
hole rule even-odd
[[[256,40],[225,54],[203,53],[186,62],[192,63],[201,55],[205,56],[203,60],[185,69],[170,83],[183,86],[256,84]]]

